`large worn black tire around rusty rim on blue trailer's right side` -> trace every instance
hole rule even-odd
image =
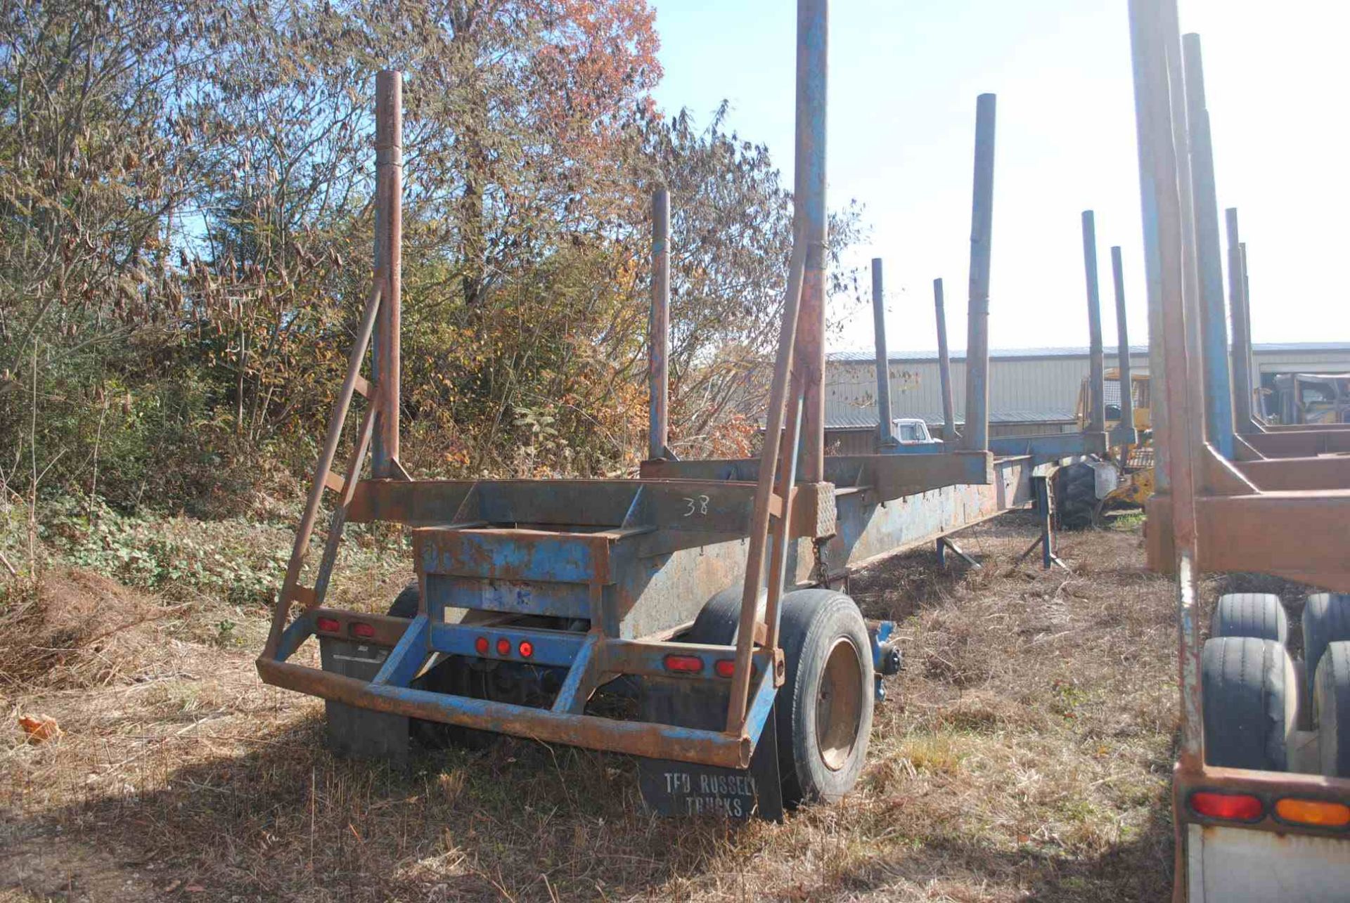
[[[787,806],[834,802],[857,783],[872,733],[876,688],[867,624],[853,599],[833,590],[798,590],[786,594],[779,624],[786,679],[779,687],[775,711],[783,802]],[[841,656],[838,661],[844,675],[852,674],[848,645],[852,645],[857,656],[857,723],[838,765],[830,768],[818,736],[821,686],[826,665],[834,663],[833,655]],[[852,718],[845,717],[845,721],[850,722]]]

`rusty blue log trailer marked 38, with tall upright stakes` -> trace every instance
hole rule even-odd
[[[882,678],[899,667],[891,625],[864,621],[846,595],[852,568],[1033,497],[1049,564],[1048,481],[1103,451],[1104,436],[988,441],[994,96],[977,104],[965,436],[921,454],[826,456],[825,0],[799,0],[796,59],[794,248],[763,455],[680,462],[666,445],[668,200],[656,190],[652,422],[637,479],[424,481],[404,470],[402,89],[398,73],[379,74],[374,286],[258,659],[265,682],[327,701],[338,750],[398,761],[413,732],[532,737],[641,757],[656,811],[774,818],[849,791]],[[367,402],[338,472],[358,394]],[[325,491],[332,520],[306,568]],[[386,614],[328,607],[344,525],[377,521],[412,530],[416,586]],[[312,638],[321,668],[296,656]]]

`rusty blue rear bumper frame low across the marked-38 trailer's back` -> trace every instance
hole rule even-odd
[[[371,680],[321,671],[308,665],[286,661],[300,644],[313,634],[313,615],[306,613],[292,625],[281,644],[278,657],[258,659],[258,675],[265,683],[285,687],[332,702],[340,702],[358,709],[386,714],[437,721],[478,730],[528,737],[543,742],[559,742],[586,749],[671,759],[720,765],[722,768],[747,768],[751,755],[764,730],[764,722],[772,711],[776,692],[775,667],[765,667],[774,659],[768,651],[755,656],[756,668],[752,675],[752,696],[745,717],[745,728],[740,733],[698,730],[643,721],[617,721],[582,714],[585,687],[594,686],[606,676],[620,674],[641,674],[653,659],[659,660],[667,644],[602,640],[598,634],[587,634],[579,640],[575,659],[570,663],[568,676],[552,709],[536,709],[514,703],[478,699],[443,692],[432,692],[412,687],[428,657],[436,649],[431,645],[432,630],[425,615],[406,624],[406,630],[398,638],[379,674]],[[362,615],[363,618],[366,615]],[[375,621],[377,618],[369,618]],[[393,618],[378,618],[392,621]],[[435,633],[447,634],[450,625],[437,625]],[[377,640],[378,642],[378,640]],[[437,642],[437,645],[440,645]],[[702,647],[671,644],[679,652],[698,651]],[[725,649],[726,656],[734,655],[734,648]],[[697,692],[699,678],[690,678],[690,690]],[[706,683],[711,683],[707,679]],[[725,683],[725,682],[724,682]]]

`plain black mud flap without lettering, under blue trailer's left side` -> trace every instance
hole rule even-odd
[[[389,657],[385,647],[351,640],[319,638],[319,659],[324,671],[344,678],[370,680],[379,674]],[[373,759],[394,768],[408,764],[408,718],[343,702],[324,701],[328,721],[328,746],[333,755],[350,759]]]

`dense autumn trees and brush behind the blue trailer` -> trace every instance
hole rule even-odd
[[[0,0],[0,490],[212,513],[312,467],[370,282],[383,67],[405,462],[630,471],[659,182],[672,441],[748,449],[791,198],[725,109],[656,109],[647,0]]]

